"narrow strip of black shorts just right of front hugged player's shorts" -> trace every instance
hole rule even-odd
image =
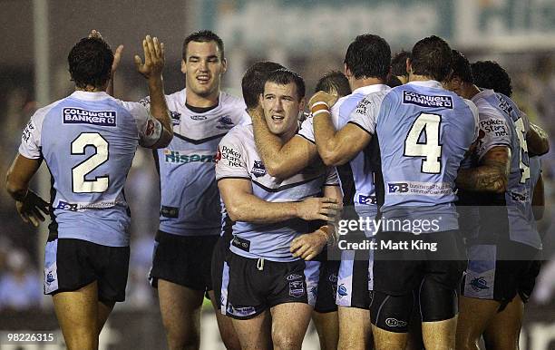
[[[325,260],[320,265],[320,277],[318,278],[318,295],[314,311],[327,313],[337,311],[337,273],[339,272],[337,260]]]

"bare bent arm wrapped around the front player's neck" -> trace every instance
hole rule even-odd
[[[284,143],[268,129],[261,107],[249,112],[252,119],[258,153],[264,161],[268,174],[287,179],[305,169],[316,159],[316,145],[302,137],[294,137]]]

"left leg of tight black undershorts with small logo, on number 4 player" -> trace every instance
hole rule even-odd
[[[374,291],[370,305],[370,320],[374,326],[388,332],[407,333],[413,306],[412,294],[390,296]]]

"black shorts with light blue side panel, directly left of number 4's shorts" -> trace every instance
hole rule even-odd
[[[337,306],[370,307],[370,283],[372,269],[369,254],[365,250],[345,250],[341,252],[341,265],[337,280]]]

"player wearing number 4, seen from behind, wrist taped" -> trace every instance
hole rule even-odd
[[[451,48],[443,39],[422,39],[407,60],[409,83],[366,96],[337,132],[326,112],[333,99],[322,93],[309,102],[316,114],[316,145],[326,164],[352,158],[374,136],[379,141],[385,184],[380,211],[389,223],[375,237],[381,248],[374,252],[370,313],[378,349],[404,348],[414,301],[421,312],[425,347],[454,347],[463,247],[453,189],[459,164],[476,137],[477,113],[472,102],[439,83],[450,66]],[[327,150],[320,151],[318,142]],[[399,224],[424,220],[432,225],[419,231]],[[395,250],[384,245],[419,240],[437,244],[437,249]]]

